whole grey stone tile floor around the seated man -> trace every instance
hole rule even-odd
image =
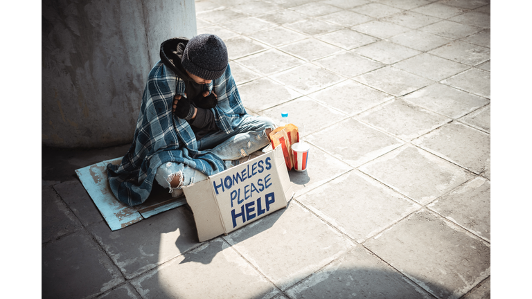
[[[112,232],[43,151],[43,298],[490,298],[490,1],[198,0],[250,114],[311,144],[287,209],[197,242],[184,207]]]

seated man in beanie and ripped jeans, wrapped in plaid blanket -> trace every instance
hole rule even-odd
[[[269,144],[269,118],[250,116],[240,100],[227,48],[216,35],[161,44],[144,89],[133,143],[109,185],[127,206],[143,203],[157,181],[172,196],[183,186],[238,164]]]

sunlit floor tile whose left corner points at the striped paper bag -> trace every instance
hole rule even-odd
[[[326,127],[309,135],[307,139],[353,167],[360,166],[402,145],[398,139],[353,118]]]

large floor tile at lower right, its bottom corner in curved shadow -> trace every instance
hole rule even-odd
[[[490,246],[427,210],[365,245],[436,298],[459,298],[490,275]]]

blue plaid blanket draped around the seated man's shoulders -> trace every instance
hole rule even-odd
[[[211,109],[220,130],[230,133],[247,116],[227,66],[222,77],[206,84],[218,95]],[[157,168],[163,163],[184,163],[211,175],[225,170],[224,162],[209,151],[199,151],[194,132],[184,119],[172,114],[175,94],[184,95],[185,82],[159,61],[150,71],[142,97],[133,143],[119,165],[107,165],[114,196],[127,206],[148,199]]]

